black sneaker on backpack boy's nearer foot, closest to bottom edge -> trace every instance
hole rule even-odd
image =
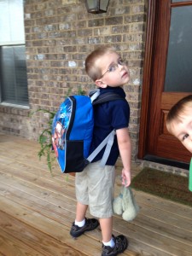
[[[123,235],[120,236],[113,236],[113,240],[115,246],[106,247],[102,244],[102,256],[116,256],[119,253],[123,253],[125,249],[128,247],[129,242],[127,241],[126,237]]]

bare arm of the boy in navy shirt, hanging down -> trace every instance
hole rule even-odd
[[[128,128],[116,130],[119,153],[123,162],[122,184],[128,187],[131,184],[131,138]]]

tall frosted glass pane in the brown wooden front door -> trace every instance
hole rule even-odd
[[[172,8],[165,91],[190,92],[192,85],[192,6]]]

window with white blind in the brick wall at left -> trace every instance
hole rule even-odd
[[[0,1],[0,101],[28,106],[23,0]]]

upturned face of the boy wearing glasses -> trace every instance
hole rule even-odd
[[[102,70],[102,77],[96,80],[96,85],[99,87],[122,86],[130,80],[128,67],[115,52],[103,55],[97,60],[96,65]]]

